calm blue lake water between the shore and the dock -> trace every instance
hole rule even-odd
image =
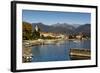
[[[56,44],[32,47],[32,62],[70,60],[70,48],[90,49],[90,40],[67,40]]]

